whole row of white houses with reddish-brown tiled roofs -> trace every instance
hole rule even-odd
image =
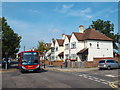
[[[113,57],[113,40],[94,30],[84,30],[72,35],[62,35],[62,39],[52,39],[51,60],[93,61],[97,57]],[[48,52],[50,53],[50,51]]]

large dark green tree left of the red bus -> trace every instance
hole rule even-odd
[[[10,28],[4,17],[0,21],[2,21],[2,58],[5,57],[5,52],[8,52],[8,57],[14,58],[20,48],[21,36]]]

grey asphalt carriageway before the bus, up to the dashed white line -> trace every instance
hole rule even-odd
[[[15,71],[3,73],[2,79],[3,88],[111,88],[108,84],[67,72],[44,71],[22,74]]]

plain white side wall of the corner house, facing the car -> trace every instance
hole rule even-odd
[[[97,48],[97,42],[99,42],[99,49]],[[90,43],[92,44],[91,47]],[[89,48],[88,61],[93,61],[94,57],[113,57],[112,41],[87,40],[85,45]]]

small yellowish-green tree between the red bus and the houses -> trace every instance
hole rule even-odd
[[[47,52],[50,49],[49,46],[46,46],[46,44],[43,41],[38,41],[37,51],[40,52],[40,55],[44,55],[44,52]]]

